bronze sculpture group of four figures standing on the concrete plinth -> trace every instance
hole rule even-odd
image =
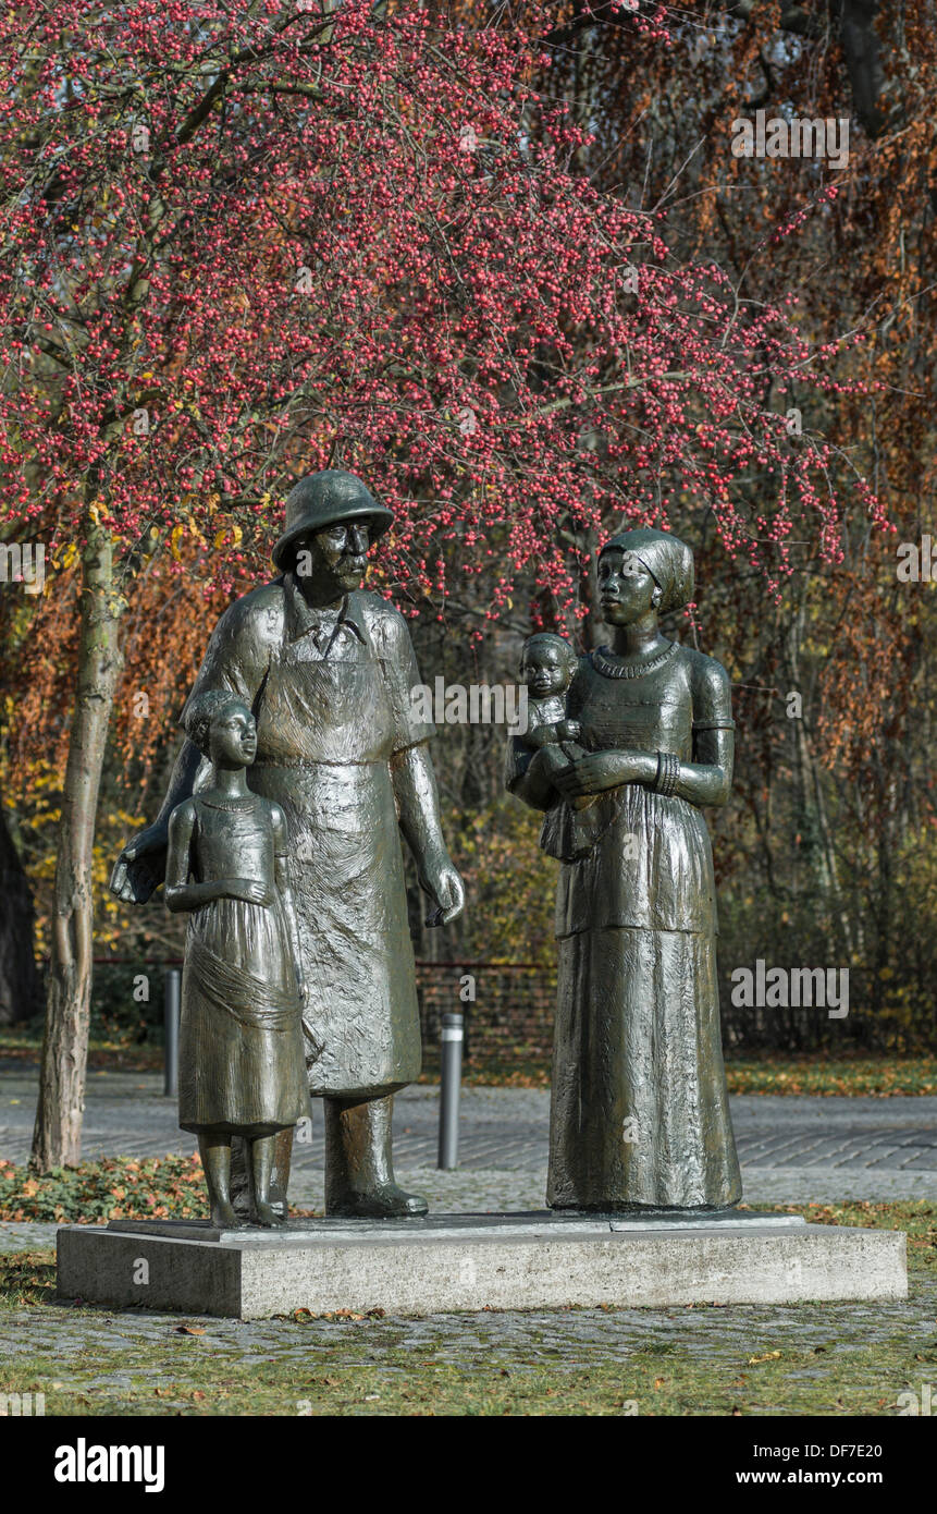
[[[324,1101],[328,1216],[427,1210],[391,1154],[392,1096],[421,1066],[401,837],[439,922],[465,893],[406,621],[363,589],[391,519],[338,469],[294,488],[280,577],[221,616],[160,815],[112,878],[145,902],[165,877],[168,907],[189,913],[180,1125],[198,1134],[221,1228],[245,1213],[283,1223],[309,1095]],[[701,815],[731,787],[728,678],[660,634],[658,616],[693,592],[680,540],[625,531],[598,578],[612,645],[578,657],[559,636],[527,640],[530,721],[506,759],[560,861],[548,1202],[730,1208],[740,1181]]]

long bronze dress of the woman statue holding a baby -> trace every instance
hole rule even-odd
[[[589,751],[665,751],[681,762],[696,760],[695,733],[733,725],[722,666],[677,643],[637,677],[622,675],[607,653],[583,659],[569,716]],[[731,1207],[742,1182],[702,813],[622,784],[575,825],[578,846],[568,854],[578,860],[563,863],[557,887],[548,1204]]]

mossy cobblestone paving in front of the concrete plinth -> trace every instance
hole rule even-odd
[[[646,1367],[648,1360],[666,1372],[668,1364],[672,1369],[687,1358],[705,1372],[704,1381],[711,1381],[725,1369],[749,1370],[745,1363],[767,1352],[787,1358],[801,1355],[807,1363],[816,1360],[816,1367],[789,1369],[789,1375],[817,1381],[836,1370],[837,1357],[845,1357],[854,1385],[866,1391],[873,1388],[883,1411],[893,1413],[896,1393],[907,1387],[923,1391],[922,1384],[932,1378],[928,1363],[934,1360],[935,1310],[937,1282],[917,1279],[907,1301],[875,1305],[551,1310],[428,1319],[309,1319],[301,1325],[203,1317],[182,1352],[177,1317],[138,1310],[100,1310],[89,1316],[53,1304],[0,1313],[0,1363],[15,1369],[17,1358],[53,1361],[54,1381],[47,1388],[51,1413],[58,1394],[65,1403],[70,1393],[80,1393],[79,1403],[89,1403],[97,1396],[145,1394],[151,1385],[159,1393],[159,1414],[191,1410],[186,1384],[198,1372],[204,1352],[210,1354],[213,1379],[245,1367],[263,1373],[275,1363],[289,1387],[283,1388],[282,1405],[274,1400],[274,1413],[294,1414],[307,1413],[309,1400],[303,1396],[313,1391],[319,1352],[327,1352],[332,1373],[345,1370],[350,1381],[371,1369],[384,1379],[424,1382],[427,1375],[431,1382],[431,1373],[447,1367],[472,1378],[498,1369],[509,1376],[542,1370],[559,1381],[566,1373],[609,1364],[621,1366],[625,1382],[631,1372],[640,1372],[642,1363]],[[904,1343],[905,1363],[911,1357],[920,1361],[910,1375],[907,1364],[901,1369],[878,1366],[876,1349],[889,1354],[896,1340]],[[91,1370],[89,1363],[94,1363]],[[746,1413],[755,1417],[789,1413],[783,1379],[774,1393],[778,1402],[772,1402],[767,1388]],[[834,1396],[836,1390],[817,1413],[836,1414]],[[654,1394],[648,1394],[648,1402],[631,1402],[639,1414],[658,1413]],[[363,1403],[353,1413],[362,1410]],[[68,1411],[76,1413],[74,1403]],[[681,1413],[695,1411],[684,1408]]]

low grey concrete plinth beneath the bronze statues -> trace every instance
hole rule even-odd
[[[58,1232],[61,1297],[269,1319],[309,1310],[440,1314],[562,1305],[904,1299],[902,1231],[778,1214],[440,1214],[292,1220],[112,1220]]]

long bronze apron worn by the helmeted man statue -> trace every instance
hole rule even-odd
[[[289,831],[304,1020],[324,1043],[310,1093],[365,1098],[419,1076],[421,1039],[394,715],[371,645],[351,650],[322,657],[309,634],[283,642],[254,706],[248,778]]]

